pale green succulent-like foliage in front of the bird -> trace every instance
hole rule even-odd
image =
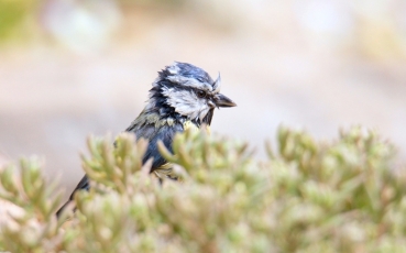
[[[146,141],[90,138],[83,165],[91,190],[57,221],[54,186],[39,162],[0,173],[18,206],[2,223],[11,252],[405,252],[406,184],[394,147],[353,128],[317,142],[281,128],[278,148],[255,162],[246,143],[187,131],[174,140],[178,180],[142,165]],[[64,222],[69,217],[68,221]],[[12,240],[8,240],[12,239]]]

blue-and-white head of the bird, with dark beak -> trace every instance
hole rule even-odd
[[[216,107],[237,106],[220,88],[220,75],[213,80],[199,67],[175,62],[158,73],[150,90],[150,107],[163,117],[177,113],[198,124],[210,124]]]

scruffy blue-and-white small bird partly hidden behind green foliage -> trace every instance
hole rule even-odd
[[[177,132],[189,127],[210,125],[216,107],[235,107],[231,99],[220,94],[220,74],[213,80],[191,64],[175,62],[158,72],[144,110],[125,131],[134,133],[136,139],[149,140],[143,163],[153,158],[150,173],[156,174],[161,182],[172,177],[172,165],[161,156],[157,142],[162,141],[172,152],[172,141]],[[76,191],[84,189],[89,189],[86,175],[56,216],[61,216]]]

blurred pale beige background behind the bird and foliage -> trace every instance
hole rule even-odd
[[[0,0],[0,163],[46,160],[70,190],[90,133],[140,113],[156,72],[222,77],[212,131],[264,157],[279,124],[320,140],[363,124],[406,154],[404,0]]]

